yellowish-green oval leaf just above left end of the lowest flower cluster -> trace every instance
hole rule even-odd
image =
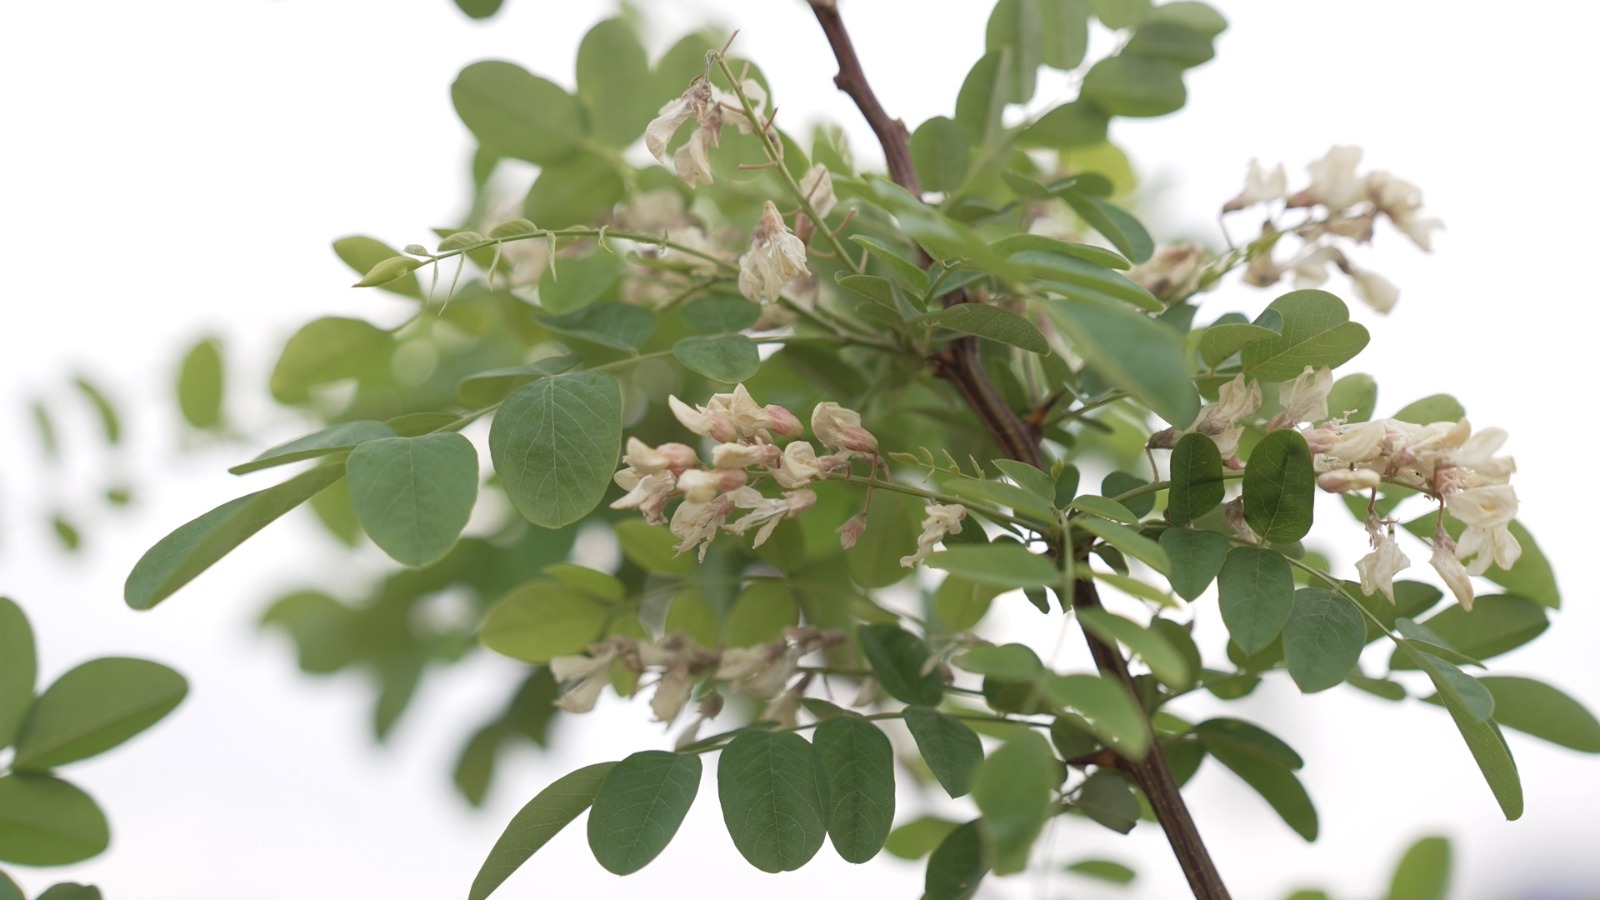
[[[592,594],[560,581],[526,581],[483,618],[478,639],[496,653],[528,663],[581,653],[600,639],[610,613]]]

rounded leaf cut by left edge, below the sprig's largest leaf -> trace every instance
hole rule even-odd
[[[61,866],[110,844],[106,814],[72,785],[50,775],[0,777],[0,860]]]

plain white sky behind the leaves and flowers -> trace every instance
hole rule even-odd
[[[613,705],[570,722],[560,753],[502,767],[486,810],[448,785],[459,740],[501,703],[517,671],[477,658],[427,682],[392,746],[366,737],[370,692],[354,679],[310,682],[286,645],[251,620],[277,589],[379,572],[349,564],[298,524],[282,524],[178,594],[160,612],[122,605],[122,578],[157,536],[267,482],[226,466],[299,429],[264,396],[266,367],[299,320],[336,312],[392,322],[398,301],[347,290],[328,250],[344,234],[395,245],[459,215],[470,143],[448,99],[454,74],[502,58],[570,83],[578,38],[610,3],[509,0],[488,24],[445,0],[342,3],[158,0],[0,6],[0,247],[10,256],[0,320],[0,593],[21,601],[42,644],[45,679],[106,653],[166,661],[192,693],[157,732],[66,775],[109,810],[112,850],[61,873],[13,870],[30,892],[70,876],[114,900],[267,897],[459,897],[504,822],[538,788],[581,764],[664,746],[643,709]],[[658,5],[651,5],[658,6]],[[659,3],[666,45],[688,22],[742,29],[784,123],[845,122],[858,154],[870,141],[832,88],[826,45],[798,2]],[[885,106],[907,122],[949,114],[981,54],[989,3],[920,0],[845,5]],[[1334,143],[1416,181],[1446,221],[1432,256],[1379,231],[1362,255],[1400,283],[1387,319],[1357,311],[1373,343],[1357,368],[1381,383],[1379,412],[1435,391],[1466,400],[1478,426],[1512,432],[1523,520],[1555,559],[1566,612],[1531,649],[1498,660],[1600,705],[1600,633],[1581,569],[1592,556],[1597,314],[1589,119],[1595,13],[1555,0],[1467,10],[1386,2],[1221,0],[1232,29],[1219,58],[1189,77],[1174,119],[1120,122],[1114,136],[1165,189],[1157,237],[1202,235],[1251,157],[1301,165]],[[1582,10],[1582,11],[1579,11]],[[1582,21],[1579,21],[1582,19]],[[926,51],[923,51],[926,48]],[[1242,226],[1245,227],[1245,226]],[[1342,291],[1339,283],[1334,290]],[[1259,306],[1234,287],[1216,309]],[[230,351],[245,421],[272,432],[184,445],[170,380],[202,330]],[[61,410],[67,375],[88,372],[131,410],[133,453],[110,463],[91,424],[62,413],[69,461],[46,469],[30,444],[26,399]],[[40,520],[115,477],[144,485],[136,511],[86,522],[91,552],[59,554]],[[270,477],[270,476],[269,476]],[[1341,548],[1362,551],[1354,528]],[[1424,565],[1426,552],[1411,548]],[[1424,565],[1426,569],[1426,565]],[[352,581],[354,583],[354,581]],[[1211,645],[1219,633],[1211,631]],[[1202,633],[1205,645],[1205,633]],[[1306,757],[1322,839],[1293,836],[1261,801],[1208,764],[1189,790],[1202,831],[1242,898],[1301,884],[1336,895],[1382,892],[1411,839],[1456,841],[1454,897],[1568,898],[1600,892],[1592,841],[1600,778],[1582,757],[1512,733],[1528,815],[1499,820],[1448,719],[1334,690],[1299,698],[1262,689],[1229,714],[1264,721]],[[1206,708],[1186,706],[1195,717]],[[698,894],[770,897],[834,892],[907,895],[920,870],[880,860],[829,862],[765,876],[738,858],[707,772],[685,831],[629,879],[606,874],[570,828],[502,892],[586,897]],[[907,794],[902,807],[914,809]],[[1136,863],[1133,890],[1066,876],[994,881],[986,897],[1176,897],[1176,866],[1158,830],[1131,838],[1077,823],[1056,828],[1053,860],[1109,855]],[[1043,866],[1042,863],[1042,868]],[[1099,892],[1096,892],[1099,890]]]

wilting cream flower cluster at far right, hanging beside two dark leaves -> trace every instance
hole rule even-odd
[[[1482,575],[1490,564],[1509,569],[1522,556],[1522,546],[1510,533],[1517,517],[1510,476],[1517,463],[1510,456],[1496,456],[1506,444],[1506,432],[1498,428],[1474,432],[1467,420],[1352,423],[1346,421],[1344,412],[1330,418],[1331,388],[1333,373],[1328,368],[1312,370],[1307,365],[1298,378],[1278,386],[1282,410],[1267,421],[1266,431],[1301,431],[1323,490],[1373,492],[1376,496],[1381,484],[1392,484],[1437,500],[1440,522],[1430,541],[1430,564],[1461,605],[1472,609],[1470,577]],[[1240,375],[1222,386],[1218,402],[1202,408],[1194,424],[1157,434],[1150,447],[1173,447],[1187,432],[1206,434],[1216,440],[1226,463],[1240,469],[1238,439],[1259,407],[1261,386],[1246,383]],[[1459,541],[1445,530],[1445,511],[1464,525]],[[1238,528],[1248,532],[1242,517],[1234,519]],[[1373,549],[1357,562],[1362,589],[1394,601],[1395,573],[1411,564],[1395,543],[1395,522],[1371,511],[1366,533]]]

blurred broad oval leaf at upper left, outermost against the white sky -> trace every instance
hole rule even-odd
[[[578,99],[520,66],[474,62],[456,75],[450,99],[472,136],[494,155],[550,165],[582,146]]]

